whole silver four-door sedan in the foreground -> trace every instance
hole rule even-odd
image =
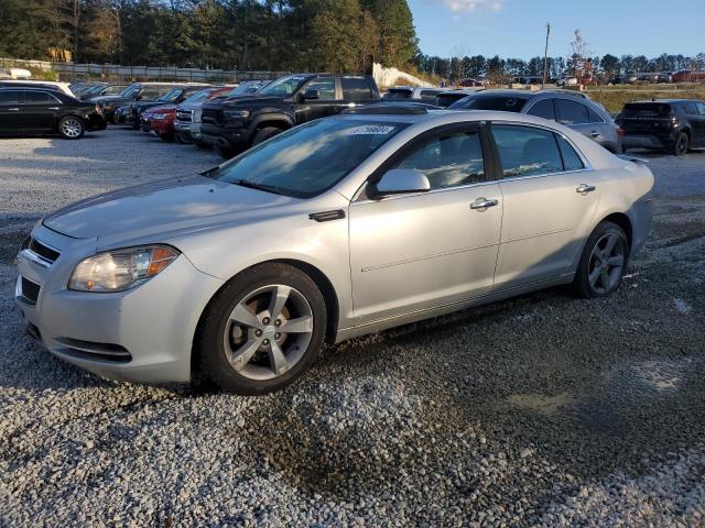
[[[324,342],[558,284],[611,294],[652,187],[540,118],[358,109],[48,215],[15,296],[51,353],[98,375],[262,394]]]

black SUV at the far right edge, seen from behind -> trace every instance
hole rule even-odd
[[[663,148],[682,156],[705,146],[705,103],[696,99],[628,102],[616,119],[625,148]]]

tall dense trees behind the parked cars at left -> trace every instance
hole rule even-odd
[[[239,70],[410,63],[406,0],[1,0],[0,56]]]

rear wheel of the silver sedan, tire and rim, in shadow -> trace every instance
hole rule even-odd
[[[612,222],[601,222],[587,239],[573,287],[579,297],[607,297],[621,284],[629,257],[625,231]]]

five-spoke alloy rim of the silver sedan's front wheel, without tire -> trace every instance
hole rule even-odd
[[[313,310],[301,292],[282,284],[258,288],[232,309],[223,345],[230,366],[250,380],[291,370],[313,337]]]

